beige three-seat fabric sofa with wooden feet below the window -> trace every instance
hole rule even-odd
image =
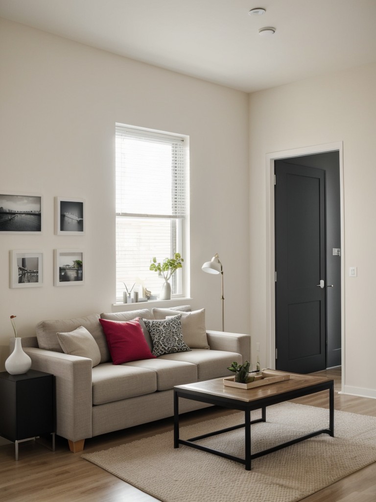
[[[189,306],[167,311],[141,309],[43,321],[37,326],[37,336],[22,339],[24,350],[32,359],[32,368],[55,375],[56,433],[68,439],[71,451],[82,451],[86,438],[172,416],[175,385],[226,376],[231,374],[227,367],[232,361],[250,360],[249,335],[208,331],[203,327],[202,313],[197,314],[202,311],[181,312],[177,311],[179,308],[190,310]],[[112,363],[100,318],[153,320],[180,313],[182,328],[184,319],[190,321],[185,323],[191,329],[191,332],[185,329],[188,341],[198,347],[151,359]],[[194,318],[196,333],[192,332]],[[196,324],[194,322],[194,328]],[[79,326],[91,333],[99,347],[100,362],[94,367],[88,357],[64,353],[57,338],[57,333],[71,332]],[[183,337],[185,341],[184,329]],[[150,344],[150,340],[147,341]],[[207,405],[181,400],[180,413],[204,406]]]

